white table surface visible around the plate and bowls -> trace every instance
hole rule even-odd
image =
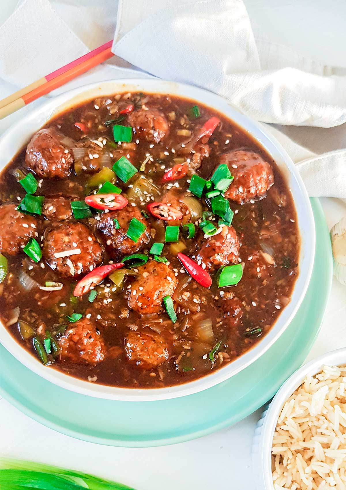
[[[98,0],[80,0],[80,3],[93,1]],[[2,2],[0,23],[16,3],[17,0]],[[345,0],[246,0],[245,3],[251,22],[271,29],[277,42],[323,63],[346,67]],[[345,125],[332,129],[289,127],[285,131],[316,152],[346,147]],[[346,204],[341,201],[322,199],[322,205],[329,228],[346,215]],[[321,333],[308,359],[346,346],[345,314],[346,287],[334,279]],[[249,490],[254,488],[251,441],[260,413],[261,410],[231,428],[196,441],[131,449],[94,445],[56,433],[0,397],[0,455],[92,472],[138,490],[159,490],[163,486],[167,490],[207,489],[216,482],[219,488]]]

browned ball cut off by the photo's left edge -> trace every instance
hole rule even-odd
[[[0,206],[0,252],[16,255],[35,237],[36,218],[17,211],[16,204]]]

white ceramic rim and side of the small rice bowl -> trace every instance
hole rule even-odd
[[[346,347],[322,354],[294,372],[276,393],[257,423],[252,443],[252,469],[257,490],[274,490],[272,482],[272,438],[282,407],[308,374],[314,376],[323,366],[345,366]]]

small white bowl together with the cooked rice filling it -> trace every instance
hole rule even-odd
[[[346,348],[282,385],[257,424],[252,466],[257,490],[346,489]]]

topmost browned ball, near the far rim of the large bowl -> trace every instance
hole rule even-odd
[[[169,132],[165,116],[157,109],[138,109],[128,116],[128,123],[140,138],[158,143]]]

